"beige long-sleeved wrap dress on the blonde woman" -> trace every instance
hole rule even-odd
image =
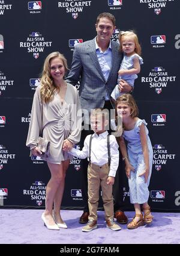
[[[29,124],[26,146],[30,149],[37,146],[39,136],[50,141],[49,163],[61,164],[61,161],[72,159],[72,155],[62,151],[65,139],[74,144],[80,141],[82,127],[82,109],[77,89],[67,83],[63,104],[58,92],[53,100],[44,103],[40,97],[41,86],[38,86],[32,103],[31,122]]]

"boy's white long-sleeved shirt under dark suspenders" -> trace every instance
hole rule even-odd
[[[108,151],[107,151],[107,135],[108,132],[105,131],[104,133],[97,135],[94,133],[92,135],[92,142],[91,142],[91,163],[96,164],[98,166],[103,166],[103,164],[108,163]],[[79,149],[72,148],[69,152],[70,154],[74,155],[75,157],[79,157],[85,159],[89,156],[89,140],[91,135],[88,135],[85,139],[84,146],[82,151]],[[113,135],[109,136],[109,143],[110,143],[110,171],[109,176],[115,177],[116,170],[118,169],[119,165],[119,146],[116,142],[116,138]]]

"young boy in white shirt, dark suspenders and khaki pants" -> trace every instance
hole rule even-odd
[[[97,208],[100,185],[106,226],[112,230],[120,230],[114,220],[112,186],[115,182],[116,170],[119,163],[118,143],[113,135],[108,134],[106,126],[109,123],[109,113],[101,108],[91,111],[91,128],[94,134],[85,139],[82,151],[71,149],[70,154],[79,157],[88,157],[88,224],[82,231],[89,232],[97,228]],[[108,149],[109,148],[109,149]]]

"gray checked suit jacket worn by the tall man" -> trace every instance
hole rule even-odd
[[[110,97],[116,86],[121,61],[119,44],[112,41],[112,67],[105,81],[95,51],[95,39],[75,46],[71,70],[65,80],[73,85],[80,81],[79,96],[82,108],[90,111],[91,108],[104,107],[106,92]]]

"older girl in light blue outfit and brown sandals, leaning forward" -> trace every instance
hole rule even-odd
[[[152,222],[149,198],[149,181],[152,171],[153,151],[146,128],[146,121],[138,117],[133,96],[125,94],[116,99],[116,117],[122,118],[123,134],[119,140],[122,160],[130,187],[130,202],[134,204],[135,216],[127,228],[134,229]],[[127,143],[127,147],[126,144]],[[140,205],[142,205],[144,216]]]

